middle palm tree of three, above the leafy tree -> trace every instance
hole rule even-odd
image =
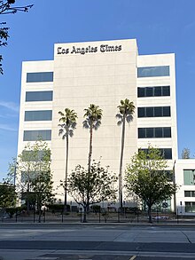
[[[98,127],[101,124],[102,119],[102,109],[99,106],[90,104],[90,107],[84,109],[84,122],[82,122],[83,127],[90,129],[90,151],[88,157],[88,171],[90,173],[91,157],[92,157],[92,138],[93,138],[93,129],[98,130]]]

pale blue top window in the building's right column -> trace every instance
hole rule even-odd
[[[169,66],[137,67],[138,77],[168,76]]]

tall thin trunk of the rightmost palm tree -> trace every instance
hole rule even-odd
[[[122,209],[122,161],[124,153],[124,142],[125,142],[125,114],[122,117],[122,133],[121,133],[121,159],[120,159],[120,170],[119,170],[119,205]]]

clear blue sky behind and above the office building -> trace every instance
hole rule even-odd
[[[18,0],[28,13],[1,15],[0,180],[17,153],[23,60],[53,59],[53,44],[136,38],[139,54],[175,52],[179,155],[195,154],[195,0]]]

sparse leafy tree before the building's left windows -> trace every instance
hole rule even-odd
[[[30,204],[39,211],[44,203],[50,202],[52,194],[51,150],[46,142],[38,140],[34,145],[30,143],[24,147],[18,156],[17,188],[27,203],[27,212]]]

